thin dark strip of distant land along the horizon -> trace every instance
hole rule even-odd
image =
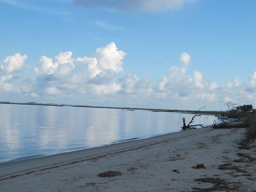
[[[207,114],[221,115],[226,114],[225,111],[193,111],[193,110],[166,110],[166,109],[151,109],[151,108],[119,108],[112,106],[90,106],[90,105],[72,105],[72,104],[45,104],[45,103],[17,103],[17,102],[0,102],[0,104],[23,104],[23,105],[45,105],[45,106],[74,106],[79,108],[102,108],[102,109],[121,109],[121,110],[147,110],[152,112],[173,112],[173,113],[189,113],[189,114]]]

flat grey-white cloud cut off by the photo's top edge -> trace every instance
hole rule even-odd
[[[74,0],[77,5],[85,7],[102,7],[106,10],[114,11],[153,11],[160,12],[165,10],[174,10],[184,6],[187,3],[193,3],[197,0]]]

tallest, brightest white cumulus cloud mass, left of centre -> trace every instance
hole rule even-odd
[[[42,56],[35,67],[35,94],[113,94],[121,86],[113,81],[121,72],[126,55],[114,42],[96,49],[93,57],[72,58],[72,52],[59,53],[53,59]],[[43,90],[43,91],[42,91]]]

